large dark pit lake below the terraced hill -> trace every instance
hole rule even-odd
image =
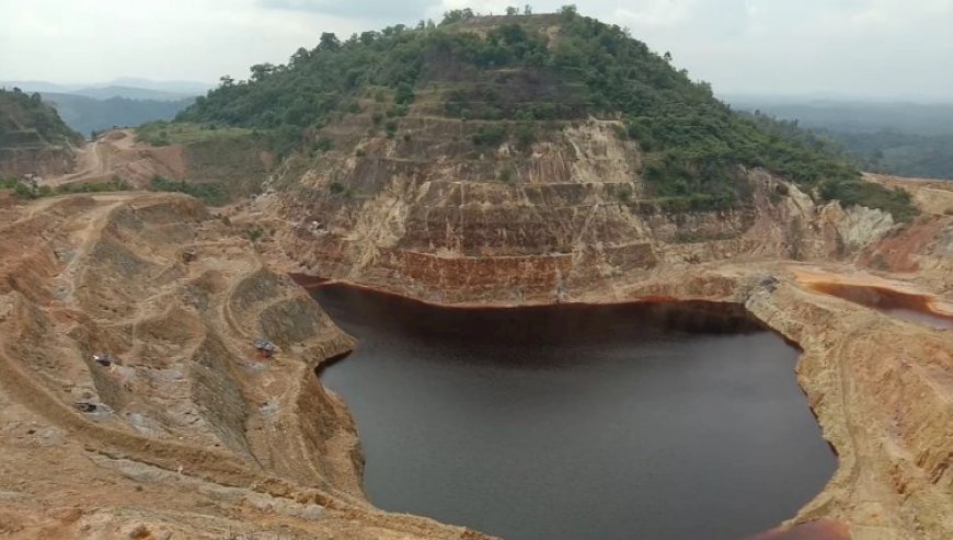
[[[378,507],[509,539],[737,539],[835,469],[796,351],[730,308],[314,294],[360,341],[321,377],[357,421]]]

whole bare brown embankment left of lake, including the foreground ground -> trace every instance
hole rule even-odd
[[[197,202],[115,194],[0,211],[0,531],[463,532],[367,505],[354,427],[313,372],[353,341]],[[257,357],[261,335],[273,358]]]

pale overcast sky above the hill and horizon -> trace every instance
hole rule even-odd
[[[566,1],[532,2],[554,11]],[[596,0],[717,93],[953,102],[953,0]],[[413,24],[492,0],[0,0],[0,80],[217,81],[285,62],[322,32]]]

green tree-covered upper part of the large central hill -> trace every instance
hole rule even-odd
[[[440,24],[390,26],[343,42],[325,33],[287,65],[253,66],[245,81],[223,77],[179,119],[267,130],[279,151],[361,113],[367,99],[388,103],[388,117],[410,111],[484,122],[473,137],[480,148],[506,140],[526,148],[540,129],[560,129],[566,120],[618,119],[619,136],[644,153],[653,194],[684,199],[689,209],[746,204],[746,166],[776,172],[818,196],[849,191],[861,194],[851,203],[902,219],[915,214],[905,193],[861,182],[857,166],[823,139],[736,114],[708,83],[675,69],[670,55],[653,53],[619,26],[572,7],[547,15],[507,13],[457,10]]]

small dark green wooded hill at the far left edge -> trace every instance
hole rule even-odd
[[[79,145],[82,140],[39,94],[0,89],[0,147]]]

